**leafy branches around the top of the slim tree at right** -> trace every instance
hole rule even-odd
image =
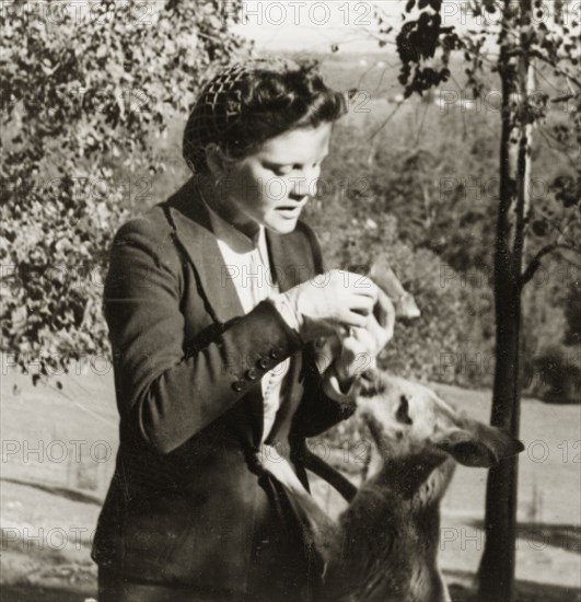
[[[579,18],[570,2],[556,2],[553,12],[544,14],[548,10],[547,3],[531,1],[535,21],[523,24],[522,12],[514,3],[508,2],[502,9],[502,25],[499,27],[498,19],[487,20],[488,14],[500,10],[499,3],[473,0],[470,9],[474,18],[480,19],[479,27],[460,32],[452,26],[443,26],[440,0],[409,0],[405,9],[406,20],[396,38],[402,61],[399,80],[405,86],[406,96],[414,93],[422,95],[446,81],[451,74],[449,67],[453,50],[464,54],[467,86],[472,89],[474,97],[481,97],[486,92],[489,84],[486,76],[488,69],[492,72],[514,70],[516,81],[516,63],[508,62],[503,66],[500,61],[495,63],[490,60],[488,48],[495,44],[508,57],[519,59],[526,55],[528,60],[536,60],[539,63],[536,70],[542,81],[547,80],[543,67],[550,69],[557,78],[556,83],[550,82],[553,96],[546,86],[538,85],[527,97],[523,97],[515,86],[509,103],[514,128],[519,124],[536,124],[539,128],[546,126],[543,132],[551,147],[570,151],[568,159],[571,167],[547,181],[547,194],[543,202],[532,207],[526,217],[524,233],[532,234],[532,244],[531,264],[523,274],[523,285],[538,268],[539,259],[545,254],[579,251],[578,242],[581,239],[581,81],[577,78],[580,61]],[[567,9],[571,12],[567,12]],[[547,117],[551,106],[563,107],[568,119],[550,123]],[[550,173],[547,175],[550,177]]]

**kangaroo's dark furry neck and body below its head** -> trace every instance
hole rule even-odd
[[[455,464],[433,468],[415,460],[385,464],[340,516],[325,571],[327,600],[450,600],[438,568],[439,505]]]

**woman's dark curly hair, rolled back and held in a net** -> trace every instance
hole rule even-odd
[[[208,173],[208,143],[242,159],[284,131],[337,120],[347,103],[345,93],[325,85],[316,62],[255,59],[222,68],[189,115],[184,159],[195,173]]]

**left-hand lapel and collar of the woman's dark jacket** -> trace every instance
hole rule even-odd
[[[212,317],[224,323],[244,315],[234,283],[226,277],[226,266],[196,181],[190,178],[169,199],[167,206],[177,241],[198,273],[206,302],[213,313]]]

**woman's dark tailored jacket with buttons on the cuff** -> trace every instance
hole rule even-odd
[[[353,408],[323,393],[312,346],[274,305],[244,315],[209,223],[189,181],[115,238],[104,308],[120,444],[92,556],[132,578],[252,600],[275,582],[300,587],[313,569],[292,500],[255,453],[260,378],[291,357],[267,442],[290,450],[305,484],[301,442]],[[281,291],[322,271],[303,223],[267,241]]]

